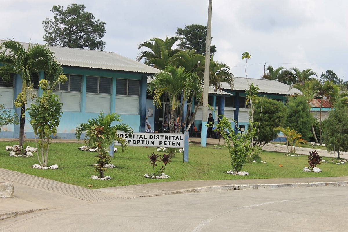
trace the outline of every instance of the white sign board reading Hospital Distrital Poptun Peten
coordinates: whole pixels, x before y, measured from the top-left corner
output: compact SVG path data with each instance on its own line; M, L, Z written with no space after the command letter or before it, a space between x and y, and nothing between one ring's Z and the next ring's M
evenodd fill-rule
M152 147L184 147L184 134L162 134L162 133L117 133L119 137L125 138L129 146L152 146ZM114 145L120 144L115 141Z

